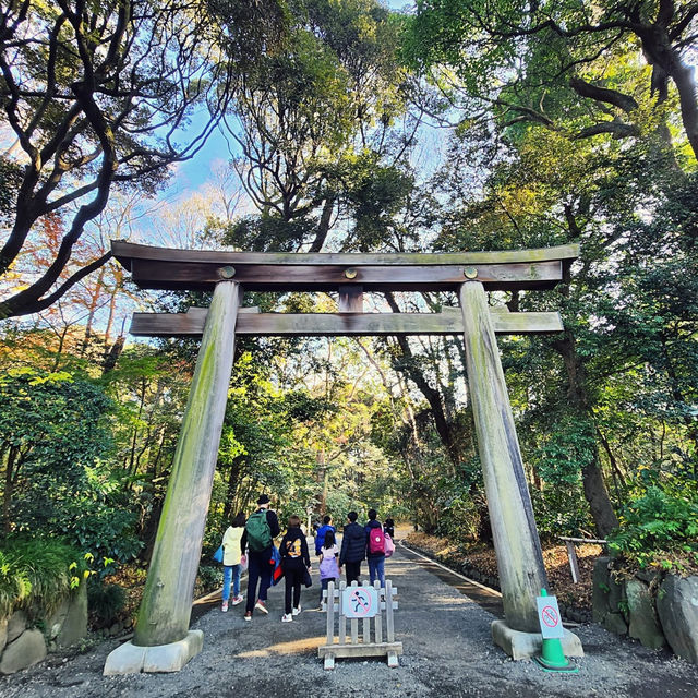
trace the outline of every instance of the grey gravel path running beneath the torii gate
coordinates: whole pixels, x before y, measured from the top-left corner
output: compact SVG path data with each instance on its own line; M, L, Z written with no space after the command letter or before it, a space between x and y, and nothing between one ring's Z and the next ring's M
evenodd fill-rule
M50 655L25 672L0 677L0 696L698 696L698 666L622 640L597 625L576 629L587 653L575 660L576 675L550 674L532 661L512 662L490 638L492 612L497 611L492 594L476 597L485 610L464 594L468 585L462 579L449 578L400 546L387 561L386 574L399 592L395 628L404 654L397 669L381 660L337 660L335 671L323 671L316 648L324 643L325 614L315 610L320 593L315 575L312 589L303 591L304 610L293 623L280 623L282 583L270 590L269 615L256 614L252 623L242 619L244 604L227 614L220 613L218 603L212 605L192 624L204 631L202 653L176 674L105 677L105 658L118 645L109 641L74 658Z

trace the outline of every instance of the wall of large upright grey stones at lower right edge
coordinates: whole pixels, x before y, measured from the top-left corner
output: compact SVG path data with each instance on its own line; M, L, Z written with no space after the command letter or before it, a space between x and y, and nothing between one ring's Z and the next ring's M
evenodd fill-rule
M698 664L698 577L638 573L617 580L612 558L599 557L593 570L593 621L645 647L664 646Z

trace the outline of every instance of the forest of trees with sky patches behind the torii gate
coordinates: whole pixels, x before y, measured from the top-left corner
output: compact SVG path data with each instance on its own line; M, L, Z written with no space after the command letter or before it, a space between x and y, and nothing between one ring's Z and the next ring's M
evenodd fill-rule
M565 324L500 339L539 530L694 568L697 15L688 0L5 3L0 611L44 593L17 561L47 538L97 590L152 552L197 342L134 341L129 317L208 299L135 289L111 239L580 243L555 290L490 294ZM336 302L244 299L279 312ZM459 337L238 338L236 357L205 558L261 491L282 517L375 506L490 542Z

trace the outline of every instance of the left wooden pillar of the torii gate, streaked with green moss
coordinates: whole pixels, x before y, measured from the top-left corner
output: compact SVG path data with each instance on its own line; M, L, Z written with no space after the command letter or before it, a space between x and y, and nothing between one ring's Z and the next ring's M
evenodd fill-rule
M157 529L136 646L177 642L189 630L234 351L240 288L216 286Z

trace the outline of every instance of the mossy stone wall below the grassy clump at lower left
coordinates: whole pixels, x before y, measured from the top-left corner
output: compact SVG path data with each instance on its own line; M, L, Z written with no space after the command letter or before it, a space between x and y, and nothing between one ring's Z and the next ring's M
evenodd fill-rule
M47 652L70 647L87 635L87 585L82 583L56 611L38 621L31 623L24 611L0 618L0 674L32 666Z

